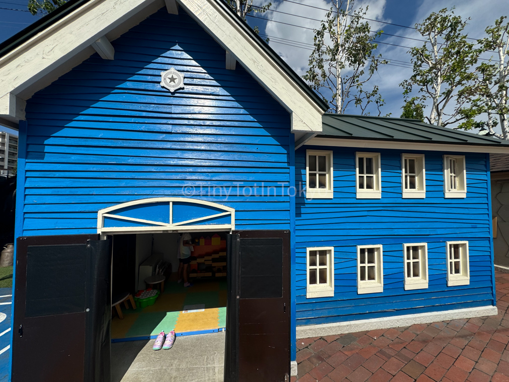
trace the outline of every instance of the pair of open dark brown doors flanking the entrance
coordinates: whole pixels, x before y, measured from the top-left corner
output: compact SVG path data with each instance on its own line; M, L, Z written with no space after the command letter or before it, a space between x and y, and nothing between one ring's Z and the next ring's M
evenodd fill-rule
M230 234L227 256L224 380L289 380L289 232ZM97 235L18 238L12 382L110 381L110 274Z

